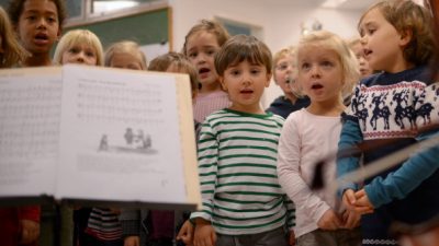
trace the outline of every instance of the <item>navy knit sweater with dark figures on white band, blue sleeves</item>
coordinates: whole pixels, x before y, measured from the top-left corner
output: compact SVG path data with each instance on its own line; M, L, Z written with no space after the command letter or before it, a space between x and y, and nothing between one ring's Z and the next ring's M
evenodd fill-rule
M416 67L399 73L382 72L363 80L357 86L351 105L344 117L339 149L352 147L362 141L373 144L376 140L398 139L394 144L364 153L367 165L416 142L414 131L409 130L421 127L424 119L428 120L434 114L436 114L434 118L437 118L439 109L437 95L435 98L429 96L430 102L425 98L427 85L430 84L430 74L427 71L426 67ZM420 124L416 124L417 121ZM358 156L338 160L337 176L358 167ZM384 178L398 167L383 172L379 176ZM365 184L370 181L370 179L365 180ZM356 184L342 187L342 189L347 188L358 189ZM370 229L373 234L379 231L386 232L393 220L418 223L431 218L437 214L439 208L438 188L439 172L436 171L406 198L390 202L378 209L375 213L365 215L365 220L362 221L363 229L365 231ZM370 227L368 223L372 223ZM368 232L364 233L365 237L371 236Z

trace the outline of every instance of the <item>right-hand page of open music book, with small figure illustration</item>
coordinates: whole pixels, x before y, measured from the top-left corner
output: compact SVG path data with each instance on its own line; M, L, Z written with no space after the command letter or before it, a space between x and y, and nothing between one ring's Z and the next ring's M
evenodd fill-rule
M176 80L65 66L58 196L185 201Z

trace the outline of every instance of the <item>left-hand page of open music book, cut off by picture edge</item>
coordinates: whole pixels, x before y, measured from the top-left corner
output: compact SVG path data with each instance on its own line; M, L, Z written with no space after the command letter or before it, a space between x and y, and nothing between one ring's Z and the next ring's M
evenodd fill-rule
M0 196L53 195L60 68L0 70Z

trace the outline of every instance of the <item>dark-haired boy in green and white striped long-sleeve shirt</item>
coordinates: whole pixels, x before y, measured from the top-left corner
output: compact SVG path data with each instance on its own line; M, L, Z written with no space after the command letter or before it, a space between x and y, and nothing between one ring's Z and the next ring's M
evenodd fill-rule
M232 37L215 57L232 106L207 116L199 139L202 211L191 214L195 246L289 245L294 209L277 174L283 118L260 105L271 52L257 38ZM291 234L294 243L294 234Z

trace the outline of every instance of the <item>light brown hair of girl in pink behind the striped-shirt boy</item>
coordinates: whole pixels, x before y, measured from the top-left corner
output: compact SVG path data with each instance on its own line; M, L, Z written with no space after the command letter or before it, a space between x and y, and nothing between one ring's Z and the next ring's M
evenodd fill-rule
M216 21L210 21L210 20L201 20L198 24L195 24L194 26L192 26L192 28L189 31L189 33L185 35L184 37L184 45L183 45L183 50L182 52L184 54L184 56L188 56L187 54L187 48L188 48L188 39L200 32L207 32L210 34L215 35L216 37L216 42L218 43L218 46L223 46L224 43L227 42L227 39L230 37L230 35L228 34L227 30L224 28L224 26L222 24L219 24Z

